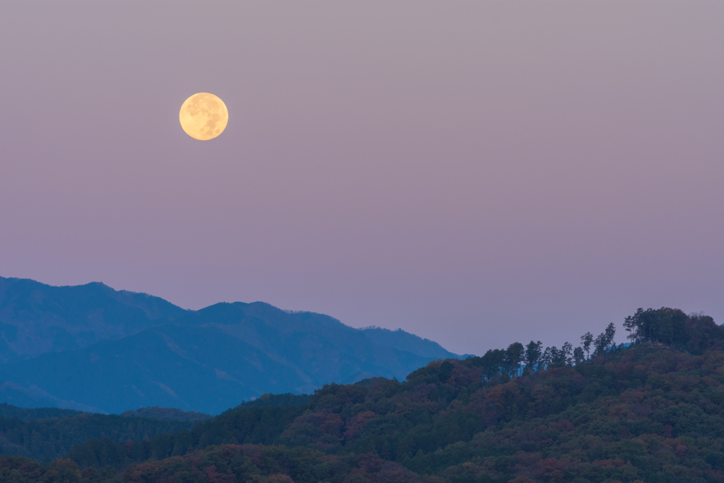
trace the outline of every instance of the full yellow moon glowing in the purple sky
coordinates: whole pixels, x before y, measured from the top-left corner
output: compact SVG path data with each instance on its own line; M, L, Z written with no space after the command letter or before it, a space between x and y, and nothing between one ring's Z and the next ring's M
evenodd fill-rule
M224 132L229 111L224 101L206 92L194 94L181 105L181 127L194 139L209 140Z

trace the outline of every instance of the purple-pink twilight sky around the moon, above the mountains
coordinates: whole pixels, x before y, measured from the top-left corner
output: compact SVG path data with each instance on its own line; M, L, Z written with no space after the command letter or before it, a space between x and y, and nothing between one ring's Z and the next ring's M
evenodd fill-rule
M0 275L458 353L638 307L722 323L723 25L721 1L4 1ZM179 125L200 91L215 140Z

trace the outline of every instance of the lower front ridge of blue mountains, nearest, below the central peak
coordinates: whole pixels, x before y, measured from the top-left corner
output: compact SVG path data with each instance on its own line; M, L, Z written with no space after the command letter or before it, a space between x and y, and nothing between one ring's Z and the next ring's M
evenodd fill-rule
M273 392L277 384L271 374L294 376L292 369L219 329L172 324L46 353L7 369L14 382L109 413L148 406L219 413ZM280 389L276 392L285 392L287 385Z

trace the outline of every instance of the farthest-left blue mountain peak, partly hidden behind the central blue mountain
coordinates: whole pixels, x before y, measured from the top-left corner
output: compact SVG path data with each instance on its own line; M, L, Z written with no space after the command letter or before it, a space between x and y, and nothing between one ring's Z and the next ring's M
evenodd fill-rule
M87 347L186 313L162 298L99 282L52 287L0 277L0 362Z

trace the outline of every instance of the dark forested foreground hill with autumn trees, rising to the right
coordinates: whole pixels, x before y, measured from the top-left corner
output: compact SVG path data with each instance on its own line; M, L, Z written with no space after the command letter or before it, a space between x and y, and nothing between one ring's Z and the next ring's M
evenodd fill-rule
M613 326L578 348L511 344L175 436L90 440L48 469L0 466L88 483L106 466L127 483L724 482L724 329L668 308L626 327L628 348Z

